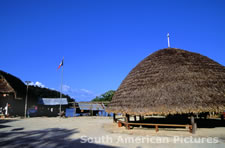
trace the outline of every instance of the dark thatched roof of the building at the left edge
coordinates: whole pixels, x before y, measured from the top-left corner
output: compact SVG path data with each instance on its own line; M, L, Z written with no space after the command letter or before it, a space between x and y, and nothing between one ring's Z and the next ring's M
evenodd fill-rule
M15 98L24 98L26 85L17 77L0 70L0 93L13 94Z

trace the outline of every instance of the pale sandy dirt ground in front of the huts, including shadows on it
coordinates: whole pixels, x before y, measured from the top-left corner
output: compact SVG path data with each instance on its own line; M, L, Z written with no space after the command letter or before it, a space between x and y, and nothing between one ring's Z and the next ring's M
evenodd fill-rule
M0 119L0 147L78 148L224 148L225 126L199 128L117 127L108 117Z

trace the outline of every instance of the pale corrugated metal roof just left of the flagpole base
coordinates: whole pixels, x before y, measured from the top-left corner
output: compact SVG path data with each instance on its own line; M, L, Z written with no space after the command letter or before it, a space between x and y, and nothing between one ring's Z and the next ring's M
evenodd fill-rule
M67 98L41 98L39 99L38 104L43 105L67 105Z

